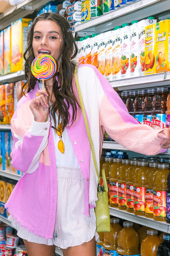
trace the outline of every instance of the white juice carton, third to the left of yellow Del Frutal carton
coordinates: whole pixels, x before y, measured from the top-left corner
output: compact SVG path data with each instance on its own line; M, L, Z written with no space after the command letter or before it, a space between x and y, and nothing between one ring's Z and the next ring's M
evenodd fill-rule
M130 26L123 23L121 31L121 79L130 78Z

